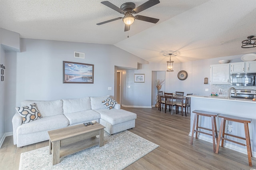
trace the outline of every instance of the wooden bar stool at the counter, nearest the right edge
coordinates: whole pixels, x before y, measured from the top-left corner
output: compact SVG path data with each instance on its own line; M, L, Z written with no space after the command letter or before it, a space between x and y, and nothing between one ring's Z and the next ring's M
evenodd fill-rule
M218 154L218 152L219 152L220 140L221 140L221 147L223 147L224 140L228 140L230 142L234 142L236 144L240 144L240 145L243 145L243 146L247 147L249 166L252 166L252 159L251 159L251 157L252 157L252 148L251 148L249 127L248 127L248 123L251 123L252 119L243 118L243 117L236 117L236 116L231 116L231 115L223 115L223 114L220 114L219 117L221 118L221 123L220 123L220 132L219 132L219 138L218 138L218 142L217 142L216 154ZM245 138L225 133L226 121L233 121L233 122L243 123L244 124ZM246 140L246 144L243 144L243 143L236 142L234 140L225 138L224 135Z

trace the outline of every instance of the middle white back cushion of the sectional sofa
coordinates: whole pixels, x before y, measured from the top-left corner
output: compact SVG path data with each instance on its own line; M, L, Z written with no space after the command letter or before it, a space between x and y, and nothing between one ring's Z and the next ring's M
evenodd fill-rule
M82 99L62 99L63 113L74 113L91 109L90 97Z

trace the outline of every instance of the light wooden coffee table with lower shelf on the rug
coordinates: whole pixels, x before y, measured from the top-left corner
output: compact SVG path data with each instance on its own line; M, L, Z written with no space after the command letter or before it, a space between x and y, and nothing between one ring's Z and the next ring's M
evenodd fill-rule
M60 163L60 157L73 154L80 150L99 144L104 146L104 126L99 123L94 125L75 125L48 131L49 154L52 154L52 165ZM99 135L99 138L96 138Z

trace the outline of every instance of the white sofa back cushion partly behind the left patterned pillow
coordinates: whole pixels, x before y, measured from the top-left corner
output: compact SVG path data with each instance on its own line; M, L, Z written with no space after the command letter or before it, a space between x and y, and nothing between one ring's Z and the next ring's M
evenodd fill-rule
M36 103L38 111L42 117L63 115L62 100L55 101L22 101L20 104L22 107L28 106L32 103Z

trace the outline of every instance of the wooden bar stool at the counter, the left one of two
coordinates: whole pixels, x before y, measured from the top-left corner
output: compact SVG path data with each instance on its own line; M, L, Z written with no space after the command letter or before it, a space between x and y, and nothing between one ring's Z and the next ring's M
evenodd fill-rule
M195 113L195 117L194 117L194 124L193 124L193 130L192 130L190 144L193 144L194 131L196 132L196 139L197 139L197 133L207 134L207 135L212 136L213 152L216 152L215 138L216 138L216 141L218 141L218 132L217 132L217 127L216 127L216 117L218 116L218 113L198 111L198 110L194 110L193 113ZM199 116L211 117L211 119L212 119L212 128L210 129L210 128L205 128L205 127L198 126ZM196 125L196 129L195 129L195 125ZM212 134L207 133L207 132L202 132L202 131L198 130L198 128L212 131Z

